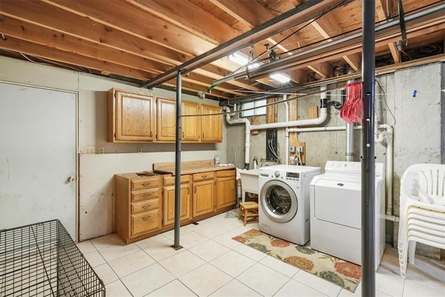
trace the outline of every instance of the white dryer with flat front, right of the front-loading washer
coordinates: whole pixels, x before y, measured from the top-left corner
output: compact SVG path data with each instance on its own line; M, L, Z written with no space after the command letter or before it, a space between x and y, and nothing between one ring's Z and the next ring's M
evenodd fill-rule
M362 163L327 161L311 182L311 248L362 265ZM385 250L385 167L375 163L375 269Z

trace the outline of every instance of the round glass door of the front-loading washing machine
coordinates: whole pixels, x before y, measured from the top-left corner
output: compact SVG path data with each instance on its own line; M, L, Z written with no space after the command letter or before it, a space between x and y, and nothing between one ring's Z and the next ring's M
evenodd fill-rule
M295 191L280 180L270 180L261 187L259 201L264 214L277 223L286 223L298 211L298 199Z

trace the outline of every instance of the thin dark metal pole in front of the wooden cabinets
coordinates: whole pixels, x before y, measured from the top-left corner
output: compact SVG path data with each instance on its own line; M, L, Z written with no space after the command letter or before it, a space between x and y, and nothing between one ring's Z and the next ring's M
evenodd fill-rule
M181 227L181 89L182 75L176 79L176 159L175 159L175 243L172 248L179 250L179 228Z

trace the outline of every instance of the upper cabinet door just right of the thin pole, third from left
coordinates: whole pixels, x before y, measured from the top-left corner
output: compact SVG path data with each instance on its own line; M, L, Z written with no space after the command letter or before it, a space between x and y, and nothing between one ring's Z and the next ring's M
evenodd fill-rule
M181 102L181 115L200 115L200 104L197 102ZM181 117L181 141L200 141L200 116Z

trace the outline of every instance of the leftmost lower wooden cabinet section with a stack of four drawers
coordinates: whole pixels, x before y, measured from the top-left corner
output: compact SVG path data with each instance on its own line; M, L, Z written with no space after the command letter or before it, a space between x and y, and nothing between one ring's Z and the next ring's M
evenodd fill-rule
M131 243L162 227L161 175L115 175L115 233Z

